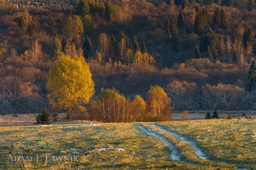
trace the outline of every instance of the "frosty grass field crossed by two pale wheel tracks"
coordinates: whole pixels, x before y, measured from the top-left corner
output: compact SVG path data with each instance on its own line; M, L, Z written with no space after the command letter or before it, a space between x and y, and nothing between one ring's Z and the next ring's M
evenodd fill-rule
M0 127L0 169L256 168L256 120Z

